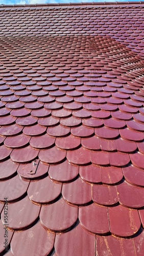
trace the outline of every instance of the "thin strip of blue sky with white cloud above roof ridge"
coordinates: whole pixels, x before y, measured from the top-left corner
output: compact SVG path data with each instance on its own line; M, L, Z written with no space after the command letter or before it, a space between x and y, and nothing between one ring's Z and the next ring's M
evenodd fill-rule
M117 0L117 2L124 2L127 0ZM138 1L139 0L129 0ZM25 4L58 4L58 3L81 3L81 2L116 2L115 0L0 0L0 4L4 5L25 5Z

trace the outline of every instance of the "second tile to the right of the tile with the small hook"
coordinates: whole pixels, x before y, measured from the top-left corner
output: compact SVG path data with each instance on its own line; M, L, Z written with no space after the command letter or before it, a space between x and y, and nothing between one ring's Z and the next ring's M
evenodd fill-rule
M93 164L80 166L80 177L89 183L100 183L102 182L101 168Z

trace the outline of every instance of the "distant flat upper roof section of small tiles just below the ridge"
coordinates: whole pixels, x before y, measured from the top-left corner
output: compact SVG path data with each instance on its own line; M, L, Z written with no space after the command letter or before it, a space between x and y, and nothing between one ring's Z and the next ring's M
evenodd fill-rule
M97 9L22 8L12 12L10 8L2 9L1 36L109 35L143 56L142 4Z

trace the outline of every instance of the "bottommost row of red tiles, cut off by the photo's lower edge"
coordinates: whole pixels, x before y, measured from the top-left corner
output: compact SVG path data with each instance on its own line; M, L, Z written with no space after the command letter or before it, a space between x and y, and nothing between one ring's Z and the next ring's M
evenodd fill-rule
M123 224L123 223L122 223ZM0 223L3 228L2 223ZM2 231L4 228L2 229ZM40 234L40 236L39 236ZM45 230L40 222L22 232L9 231L11 250L6 255L142 255L143 231L132 239L118 238L114 236L94 236L81 224L68 232L54 233ZM25 241L25 246L23 246ZM2 252L3 253L3 252ZM2 254L3 255L3 254Z

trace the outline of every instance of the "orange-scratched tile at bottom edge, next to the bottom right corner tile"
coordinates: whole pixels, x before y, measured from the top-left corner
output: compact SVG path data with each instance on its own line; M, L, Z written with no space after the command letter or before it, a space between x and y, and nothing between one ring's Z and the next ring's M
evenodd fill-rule
M111 256L116 255L135 255L135 248L132 239L124 239L113 236L97 236L96 237L96 251L98 255L104 252L106 255L111 254Z

